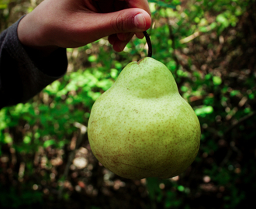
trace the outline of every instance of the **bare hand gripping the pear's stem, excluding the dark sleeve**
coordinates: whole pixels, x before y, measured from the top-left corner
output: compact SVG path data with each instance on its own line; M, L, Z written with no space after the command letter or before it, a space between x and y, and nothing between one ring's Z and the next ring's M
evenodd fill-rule
M122 51L151 24L147 0L44 0L18 26L20 42L36 49L85 46L109 36Z

